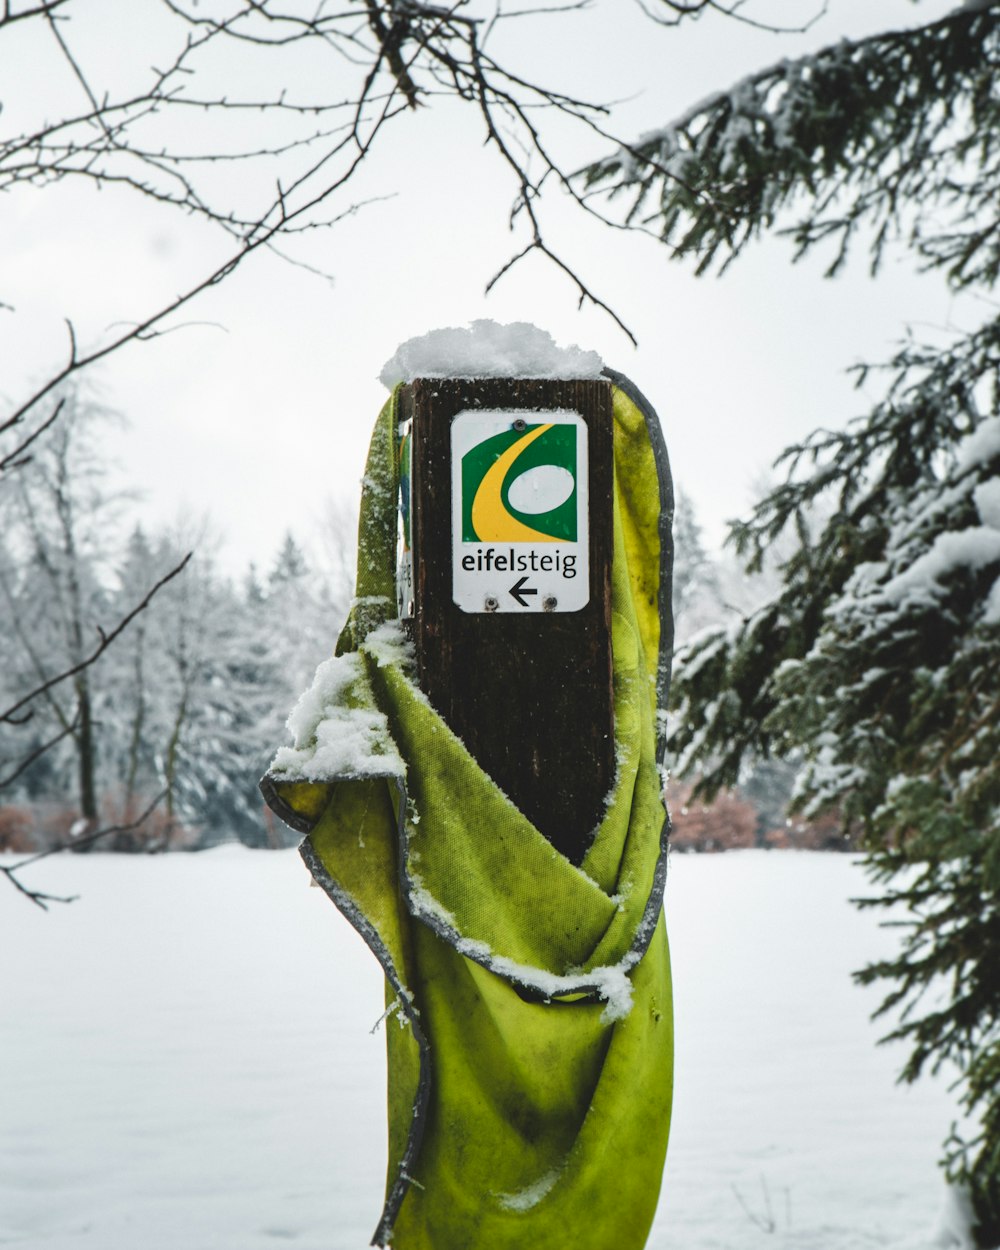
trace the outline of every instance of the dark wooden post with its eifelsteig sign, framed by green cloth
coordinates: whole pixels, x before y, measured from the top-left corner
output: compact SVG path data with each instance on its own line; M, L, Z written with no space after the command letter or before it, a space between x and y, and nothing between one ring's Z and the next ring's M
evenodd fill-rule
M579 864L615 776L611 386L418 379L406 420L421 689Z

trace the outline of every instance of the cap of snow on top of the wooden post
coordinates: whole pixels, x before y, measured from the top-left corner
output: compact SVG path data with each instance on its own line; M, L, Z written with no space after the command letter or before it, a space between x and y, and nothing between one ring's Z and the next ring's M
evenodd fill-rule
M529 321L472 321L408 339L379 375L391 390L414 378L600 378L596 351L560 348Z

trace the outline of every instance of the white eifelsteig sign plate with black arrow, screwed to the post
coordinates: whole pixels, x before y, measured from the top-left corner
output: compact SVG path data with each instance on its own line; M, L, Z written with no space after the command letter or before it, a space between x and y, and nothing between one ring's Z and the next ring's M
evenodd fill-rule
M451 424L451 591L466 612L590 600L588 428L566 409L471 409Z

